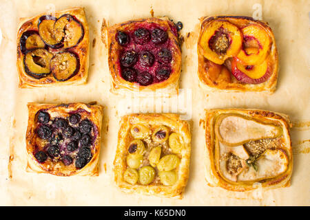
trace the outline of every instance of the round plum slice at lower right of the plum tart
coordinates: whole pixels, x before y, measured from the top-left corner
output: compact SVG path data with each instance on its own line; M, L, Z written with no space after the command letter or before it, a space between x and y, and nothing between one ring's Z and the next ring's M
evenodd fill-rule
M79 72L79 58L70 52L61 52L50 61L50 69L56 80L68 80Z

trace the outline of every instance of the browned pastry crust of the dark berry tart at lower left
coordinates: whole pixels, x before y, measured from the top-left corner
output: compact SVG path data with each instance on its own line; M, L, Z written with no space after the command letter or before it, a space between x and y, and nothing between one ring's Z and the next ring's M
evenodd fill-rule
M52 118L68 118L72 113L79 113L81 120L88 119L93 123L92 135L95 137L92 140L92 159L83 166L77 169L74 163L70 166L64 166L63 162L53 162L52 159L46 159L45 162L39 163L34 157L36 146L42 148L45 146L45 141L37 137L37 113L44 110L50 114ZM58 176L72 176L72 175L88 175L98 176L99 174L99 152L101 146L101 123L103 118L103 108L100 105L90 105L84 103L70 103L70 104L38 104L28 103L28 128L26 132L26 149L27 149L27 168L28 172L34 173L50 173ZM76 155L76 154L74 154Z

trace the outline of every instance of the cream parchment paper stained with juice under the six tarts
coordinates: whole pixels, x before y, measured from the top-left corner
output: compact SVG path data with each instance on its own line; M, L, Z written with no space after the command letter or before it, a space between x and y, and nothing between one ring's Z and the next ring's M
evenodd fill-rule
M309 206L309 1L0 1L0 205L6 206ZM19 17L83 6L90 26L90 69L86 85L56 88L17 87L16 36ZM261 8L261 14L259 9ZM110 93L107 48L101 23L165 16L183 22L183 70L180 88L187 95L177 109L172 100L134 99ZM198 87L196 40L198 19L214 14L261 16L271 26L278 46L280 71L275 94L207 92ZM99 177L56 177L26 173L27 102L91 102L104 109ZM149 104L151 101L152 104ZM293 122L293 176L289 188L228 192L207 186L205 135L199 121L204 109L255 108L290 115ZM128 112L176 111L192 125L192 157L185 195L164 199L127 195L116 188L112 162L121 115Z

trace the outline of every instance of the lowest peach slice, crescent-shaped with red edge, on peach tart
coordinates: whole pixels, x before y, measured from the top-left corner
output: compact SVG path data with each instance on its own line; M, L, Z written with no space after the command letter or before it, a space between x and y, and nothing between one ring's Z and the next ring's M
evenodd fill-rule
M238 58L234 57L231 62L231 74L241 83L259 84L264 83L271 76L271 71L267 61L260 65L243 65Z

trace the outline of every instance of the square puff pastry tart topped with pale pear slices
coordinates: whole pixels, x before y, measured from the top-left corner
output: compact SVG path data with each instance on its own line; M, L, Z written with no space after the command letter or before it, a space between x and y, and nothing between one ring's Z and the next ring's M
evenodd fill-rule
M287 115L256 109L215 109L205 120L207 181L246 191L289 186L293 155Z

